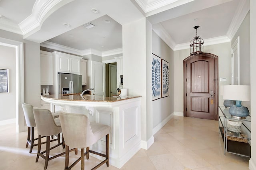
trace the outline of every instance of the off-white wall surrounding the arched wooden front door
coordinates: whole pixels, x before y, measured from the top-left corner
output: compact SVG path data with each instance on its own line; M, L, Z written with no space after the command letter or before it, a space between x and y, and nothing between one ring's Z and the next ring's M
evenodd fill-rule
M218 56L219 78L226 77L227 82L219 82L219 86L231 84L231 45L221 43L204 46L205 53ZM174 111L183 113L183 60L190 55L190 49L174 51ZM219 93L220 94L220 93ZM219 95L219 105L223 105L223 98Z

